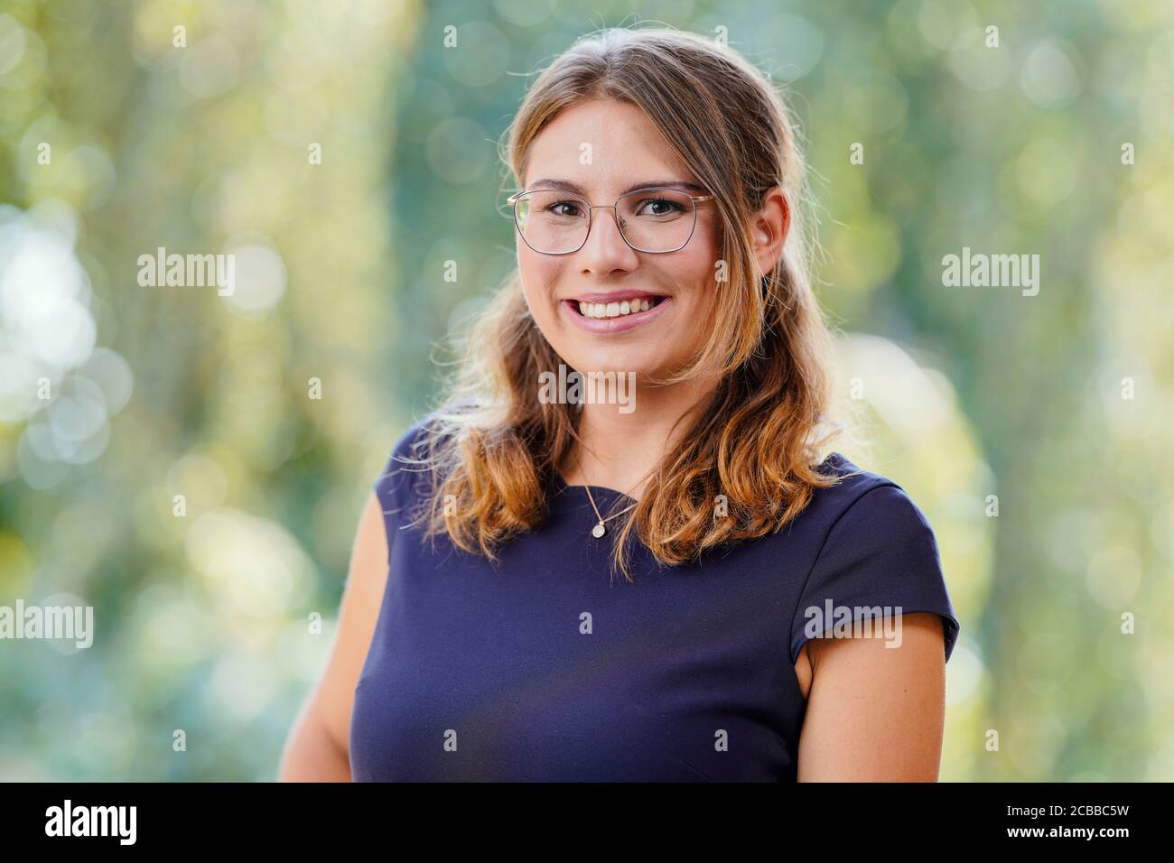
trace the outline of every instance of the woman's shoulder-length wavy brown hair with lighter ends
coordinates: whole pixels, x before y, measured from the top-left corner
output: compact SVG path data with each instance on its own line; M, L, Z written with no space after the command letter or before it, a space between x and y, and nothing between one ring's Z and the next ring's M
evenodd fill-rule
M661 382L718 375L618 532L613 566L630 581L626 550L634 537L672 566L782 528L815 488L842 478L817 468L823 444L843 426L825 416L830 332L809 282L803 160L771 82L733 49L682 31L583 36L541 72L507 129L500 155L519 184L535 136L593 99L641 108L716 196L728 275L715 285L714 316L728 325L714 326L694 360ZM776 186L791 224L780 259L762 272L750 225ZM539 375L560 362L514 270L475 321L444 406L425 424L426 537L447 534L495 560L501 544L541 525L549 483L579 440L579 409L539 398Z

